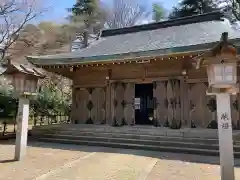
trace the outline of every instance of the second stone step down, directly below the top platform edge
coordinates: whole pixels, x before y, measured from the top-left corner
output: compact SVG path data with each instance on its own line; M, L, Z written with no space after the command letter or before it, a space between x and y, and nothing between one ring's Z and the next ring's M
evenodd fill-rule
M94 136L105 138L127 138L127 139L144 139L152 141L179 141L179 142L197 142L205 144L218 144L218 139L204 139L204 138L184 138L184 137L168 137L145 134L130 134L130 133L108 133L108 132L79 132L79 131L59 131L58 135L72 135L72 136Z

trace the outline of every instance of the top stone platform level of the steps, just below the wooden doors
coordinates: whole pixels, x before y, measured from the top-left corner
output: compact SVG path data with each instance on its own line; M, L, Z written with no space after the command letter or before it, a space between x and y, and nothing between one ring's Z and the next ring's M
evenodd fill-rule
M108 125L87 125L87 124L57 124L43 125L33 127L35 130L54 130L54 131L91 131L91 132L108 132L108 133L136 133L145 135L167 136L167 137L188 137L188 138L207 138L218 139L217 129L201 129L201 128L182 128L169 129L154 126L122 126L113 127ZM233 131L233 137L240 136L240 130Z

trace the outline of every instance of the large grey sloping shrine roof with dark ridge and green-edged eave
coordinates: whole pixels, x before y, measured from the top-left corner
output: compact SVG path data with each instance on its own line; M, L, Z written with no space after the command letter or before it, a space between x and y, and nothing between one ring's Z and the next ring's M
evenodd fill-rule
M57 55L31 56L35 65L80 64L142 56L160 56L211 48L223 32L240 40L220 12L159 23L103 30L101 37L85 49ZM239 41L240 42L240 41Z

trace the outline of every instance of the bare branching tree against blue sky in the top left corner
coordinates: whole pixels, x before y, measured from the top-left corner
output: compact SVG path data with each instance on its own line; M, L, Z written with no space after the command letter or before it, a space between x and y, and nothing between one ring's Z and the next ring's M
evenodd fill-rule
M19 38L24 26L43 12L39 5L38 0L0 1L0 60Z

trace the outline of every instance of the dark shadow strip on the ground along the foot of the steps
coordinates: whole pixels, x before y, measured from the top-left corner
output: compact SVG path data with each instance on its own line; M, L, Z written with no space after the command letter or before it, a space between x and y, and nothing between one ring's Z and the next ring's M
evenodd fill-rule
M14 145L14 141L0 141L0 145ZM213 156L201 156L192 154L176 154L176 153L166 153L157 151L144 151L135 149L119 149L119 148L109 148L109 147L98 147L98 146L80 146L73 144L58 144L58 143L44 143L37 141L29 141L28 146L34 148L50 148L50 149L61 149L69 151L82 151L82 152L101 152L101 153L120 153L120 154L132 154L137 156L145 156L158 158L159 160L179 160L183 162L191 163L204 163L219 165L219 157ZM14 160L6 160L5 163L13 162ZM4 163L1 162L0 163ZM235 159L235 167L240 167L240 159Z

